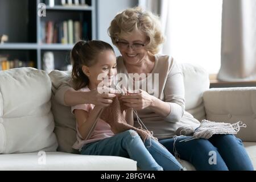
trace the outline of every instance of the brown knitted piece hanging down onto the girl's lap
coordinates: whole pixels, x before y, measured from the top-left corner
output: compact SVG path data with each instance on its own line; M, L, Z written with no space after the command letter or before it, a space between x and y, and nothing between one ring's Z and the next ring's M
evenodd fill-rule
M112 104L109 107L105 107L101 113L100 118L108 123L114 134L121 133L126 130L135 130L145 141L147 138L154 138L150 131L144 129L138 129L137 127L127 124L123 117L123 111L128 109L125 105L119 102L118 97L115 97Z

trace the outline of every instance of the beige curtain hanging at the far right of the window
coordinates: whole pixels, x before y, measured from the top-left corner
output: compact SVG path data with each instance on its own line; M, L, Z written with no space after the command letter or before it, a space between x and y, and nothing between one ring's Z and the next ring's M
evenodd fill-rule
M256 80L256 1L224 0L221 69L223 81Z

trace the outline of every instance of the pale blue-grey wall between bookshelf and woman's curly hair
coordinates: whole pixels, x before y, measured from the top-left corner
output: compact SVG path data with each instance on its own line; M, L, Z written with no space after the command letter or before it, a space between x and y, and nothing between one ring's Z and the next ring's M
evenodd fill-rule
M108 35L108 27L114 16L125 10L127 7L133 7L138 5L138 0L98 0L97 3L97 37L99 40L103 40L112 44ZM113 44L112 44L113 46ZM115 48L115 47L114 47ZM115 48L115 54L120 55L117 48Z

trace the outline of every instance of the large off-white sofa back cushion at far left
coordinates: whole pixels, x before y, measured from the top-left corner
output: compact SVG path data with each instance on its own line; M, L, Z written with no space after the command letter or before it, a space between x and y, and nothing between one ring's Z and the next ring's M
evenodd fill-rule
M0 154L56 151L51 80L35 68L0 71Z

